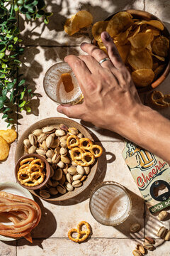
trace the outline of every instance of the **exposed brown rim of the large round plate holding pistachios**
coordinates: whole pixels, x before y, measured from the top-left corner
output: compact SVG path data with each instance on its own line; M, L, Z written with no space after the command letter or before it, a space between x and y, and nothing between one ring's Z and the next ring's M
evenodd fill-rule
M36 122L35 124L31 125L21 136L21 139L19 140L18 145L16 146L15 162L17 163L18 159L20 159L21 156L23 156L24 154L23 140L27 139L28 135L31 132L33 132L35 129L41 129L42 127L52 126L55 124L66 124L68 127L75 127L79 129L81 134L84 134L84 137L94 140L91 137L91 134L89 134L89 132L87 132L87 130L81 124L78 124L72 119L62 118L62 117L50 117L47 119L42 119ZM96 174L97 167L98 167L98 161L95 161L93 166L91 166L91 171L87 176L86 181L84 181L83 185L79 188L74 188L74 191L68 191L64 195L60 195L60 196L56 195L56 196L51 196L50 198L42 198L39 195L39 191L36 191L36 190L30 191L30 193L33 193L33 195L38 196L39 198L45 199L47 201L53 201L53 202L67 201L70 198L74 198L75 196L77 196L79 193L84 191L90 185L91 181L93 181L94 176Z

